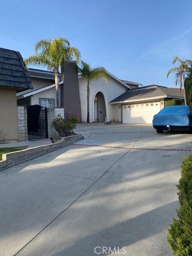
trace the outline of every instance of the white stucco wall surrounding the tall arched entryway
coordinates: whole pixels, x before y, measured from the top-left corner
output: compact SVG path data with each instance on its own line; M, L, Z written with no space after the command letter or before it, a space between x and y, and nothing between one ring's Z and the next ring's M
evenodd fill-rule
M87 81L84 78L79 79L79 90L81 100L81 113L82 121L87 120ZM94 97L97 92L102 92L106 100L106 117L107 121L113 120L114 117L114 106L108 104L111 100L118 97L120 94L126 91L126 87L116 81L114 78L109 77L109 83L103 79L92 80L90 82L90 122L93 121L93 103Z

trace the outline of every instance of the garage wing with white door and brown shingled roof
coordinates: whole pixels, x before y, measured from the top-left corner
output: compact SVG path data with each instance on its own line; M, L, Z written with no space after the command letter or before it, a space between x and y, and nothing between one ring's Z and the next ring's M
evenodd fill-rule
M183 91L158 85L143 86L127 90L109 102L118 112L122 123L152 123L153 116L162 108L166 100L184 99ZM118 111L119 108L119 111Z

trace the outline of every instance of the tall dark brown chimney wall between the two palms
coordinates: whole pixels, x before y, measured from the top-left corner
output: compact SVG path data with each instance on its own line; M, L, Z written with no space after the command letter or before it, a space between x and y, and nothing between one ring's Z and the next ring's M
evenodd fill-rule
M61 85L61 108L64 108L65 118L72 111L73 115L79 115L81 122L79 80L74 62L69 62L65 68L64 84Z

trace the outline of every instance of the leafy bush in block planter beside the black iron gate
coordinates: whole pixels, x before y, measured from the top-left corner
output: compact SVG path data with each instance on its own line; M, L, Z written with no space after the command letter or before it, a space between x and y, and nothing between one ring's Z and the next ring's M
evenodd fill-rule
M58 132L59 138L61 138L61 136L69 136L73 133L73 129L76 128L76 124L72 123L70 120L62 118L60 114L58 114L58 116L52 121L52 126Z

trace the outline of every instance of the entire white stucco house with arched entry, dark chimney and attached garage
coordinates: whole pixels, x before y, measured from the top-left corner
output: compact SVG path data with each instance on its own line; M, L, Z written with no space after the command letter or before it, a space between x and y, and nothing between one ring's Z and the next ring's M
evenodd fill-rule
M152 123L154 114L164 107L168 99L184 99L183 92L174 88L120 80L110 72L108 84L102 80L90 82L90 122L120 121L123 123ZM34 86L17 94L18 105L40 104L54 107L56 92L54 73L50 71L28 69ZM60 82L61 107L65 117L72 111L82 122L87 120L87 81L78 76L74 62L66 67L65 81Z

